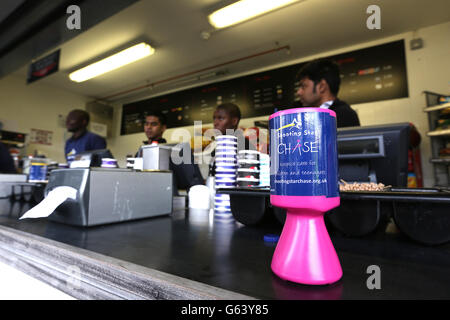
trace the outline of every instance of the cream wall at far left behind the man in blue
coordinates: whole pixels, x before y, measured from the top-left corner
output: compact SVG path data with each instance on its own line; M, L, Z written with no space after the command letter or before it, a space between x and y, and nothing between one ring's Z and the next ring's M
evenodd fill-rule
M40 81L26 84L26 79L9 75L0 79L0 121L3 130L30 133L40 129L53 132L52 145L28 144L26 152L39 150L47 157L65 162L64 143L70 134L58 123L72 109L85 109L87 97L51 87Z

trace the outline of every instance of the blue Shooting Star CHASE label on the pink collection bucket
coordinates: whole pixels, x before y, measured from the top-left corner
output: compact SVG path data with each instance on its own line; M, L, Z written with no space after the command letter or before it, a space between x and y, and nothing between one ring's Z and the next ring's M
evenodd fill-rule
M336 118L328 112L270 119L270 193L338 197Z

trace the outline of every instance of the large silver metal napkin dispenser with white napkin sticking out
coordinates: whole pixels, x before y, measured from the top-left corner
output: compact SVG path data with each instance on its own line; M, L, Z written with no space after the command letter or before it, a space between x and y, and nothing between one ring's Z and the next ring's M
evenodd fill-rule
M77 189L76 200L59 205L48 219L95 226L172 212L172 172L130 169L59 169L50 173L45 195L60 186Z

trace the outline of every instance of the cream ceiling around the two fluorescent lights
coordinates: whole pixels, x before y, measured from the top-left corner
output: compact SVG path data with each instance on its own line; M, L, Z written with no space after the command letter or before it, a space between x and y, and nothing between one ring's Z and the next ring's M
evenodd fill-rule
M2 0L3 1L3 0ZM280 51L229 64L228 77L272 64L364 43L450 21L449 0L304 0L254 20L213 32L208 9L218 0L141 0L61 46L60 71L39 82L102 98L172 76L225 63L279 46ZM366 9L381 8L381 30L369 30ZM83 23L83 12L82 12ZM83 25L82 25L83 27ZM68 73L106 52L145 37L156 53L103 76L75 83ZM56 48L54 48L56 49ZM16 74L26 77L27 67ZM217 79L218 80L218 79ZM31 84L32 85L32 84ZM179 85L178 85L179 86ZM134 91L152 95L176 84ZM134 96L135 98L136 96ZM130 99L128 95L110 100Z

